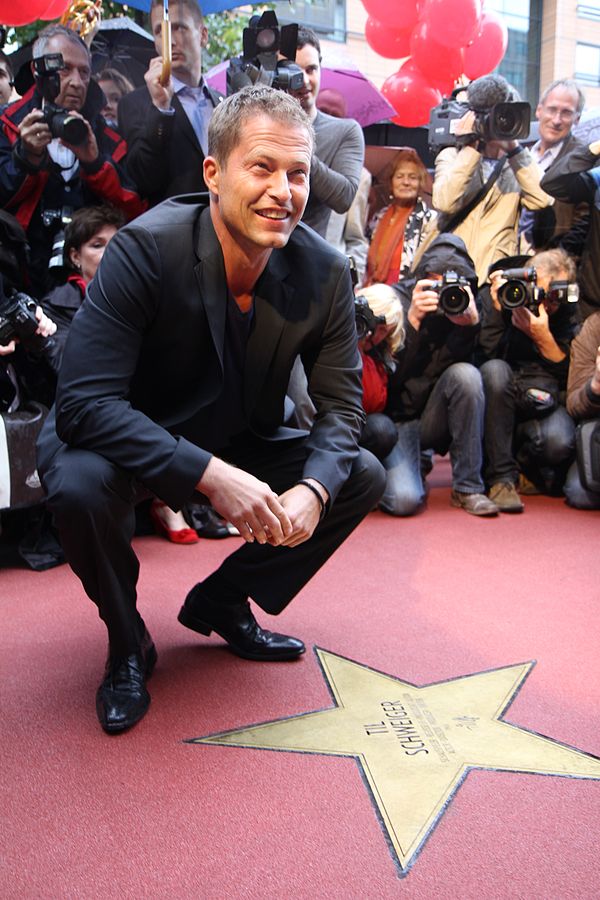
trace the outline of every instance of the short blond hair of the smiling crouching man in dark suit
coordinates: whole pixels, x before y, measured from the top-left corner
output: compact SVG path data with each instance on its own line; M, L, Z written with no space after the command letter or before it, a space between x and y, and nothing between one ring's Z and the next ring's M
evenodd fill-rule
M309 138L311 149L315 135L310 119L297 100L265 85L242 88L213 112L208 126L208 153L220 166L225 166L231 151L241 141L246 121L252 116L268 116L289 127L302 128Z

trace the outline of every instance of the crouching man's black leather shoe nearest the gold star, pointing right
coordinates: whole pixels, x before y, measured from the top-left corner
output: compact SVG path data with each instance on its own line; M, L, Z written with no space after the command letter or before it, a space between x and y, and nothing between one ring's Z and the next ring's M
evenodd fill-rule
M247 600L215 603L202 594L200 585L189 592L177 618L186 628L199 634L209 635L216 631L227 641L229 648L244 659L264 662L296 659L306 649L298 638L261 628Z

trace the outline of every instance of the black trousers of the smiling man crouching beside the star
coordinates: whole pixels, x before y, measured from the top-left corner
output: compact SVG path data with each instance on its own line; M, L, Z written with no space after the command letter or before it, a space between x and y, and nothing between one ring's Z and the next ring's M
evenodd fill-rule
M132 653L144 625L136 609L139 561L131 542L135 505L149 492L96 453L64 444L51 449L49 443L40 447L39 471L67 560L99 609L111 651ZM252 440L220 455L282 493L302 477L307 452L301 438ZM281 612L373 508L384 485L383 467L361 449L310 540L293 548L245 543L224 560L219 573L266 612Z

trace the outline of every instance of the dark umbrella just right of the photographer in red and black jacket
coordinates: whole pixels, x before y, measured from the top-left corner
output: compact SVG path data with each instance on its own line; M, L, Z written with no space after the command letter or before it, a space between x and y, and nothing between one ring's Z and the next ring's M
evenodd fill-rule
M144 75L156 56L152 35L127 16L100 23L91 46L94 74L117 69L136 86L144 84Z

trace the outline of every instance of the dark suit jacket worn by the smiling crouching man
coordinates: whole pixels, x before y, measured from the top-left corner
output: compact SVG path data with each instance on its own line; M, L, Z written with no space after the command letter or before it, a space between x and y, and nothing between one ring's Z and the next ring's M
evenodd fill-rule
M211 458L183 423L202 421L223 386L227 285L206 202L166 201L115 235L71 326L56 399L63 441L112 460L173 509ZM347 260L304 225L255 290L244 405L267 440L299 434L284 426L298 354L317 408L304 476L333 500L358 452L361 363Z

